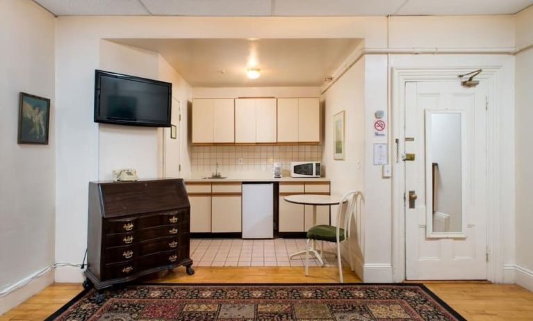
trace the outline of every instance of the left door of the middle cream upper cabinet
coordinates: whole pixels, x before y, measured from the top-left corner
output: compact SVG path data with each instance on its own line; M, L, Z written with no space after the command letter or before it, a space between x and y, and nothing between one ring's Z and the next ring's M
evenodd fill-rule
M235 142L256 142L255 99L235 99Z

